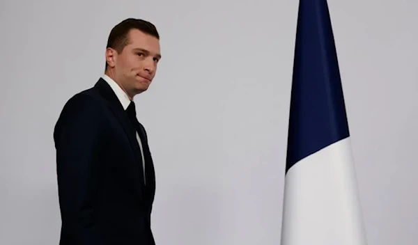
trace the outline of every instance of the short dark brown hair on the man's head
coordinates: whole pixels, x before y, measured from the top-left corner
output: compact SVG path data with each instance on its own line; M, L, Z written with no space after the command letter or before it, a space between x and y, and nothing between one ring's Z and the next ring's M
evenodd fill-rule
M160 39L160 35L158 34L154 24L147 22L144 19L128 18L111 29L106 48L111 47L112 49L115 49L118 54L120 54L123 51L123 48L130 42L128 34L132 29L137 29ZM107 62L104 70L106 69Z

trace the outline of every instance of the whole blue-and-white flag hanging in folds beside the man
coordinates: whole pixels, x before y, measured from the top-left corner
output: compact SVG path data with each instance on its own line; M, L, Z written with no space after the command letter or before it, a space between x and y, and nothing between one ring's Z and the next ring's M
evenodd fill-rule
M366 245L326 0L300 0L281 245Z

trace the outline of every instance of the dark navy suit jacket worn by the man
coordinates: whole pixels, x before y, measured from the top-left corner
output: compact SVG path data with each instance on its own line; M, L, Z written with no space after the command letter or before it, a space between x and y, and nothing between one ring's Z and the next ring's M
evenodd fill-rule
M153 245L155 172L146 131L138 133L103 79L73 96L54 128L60 245Z

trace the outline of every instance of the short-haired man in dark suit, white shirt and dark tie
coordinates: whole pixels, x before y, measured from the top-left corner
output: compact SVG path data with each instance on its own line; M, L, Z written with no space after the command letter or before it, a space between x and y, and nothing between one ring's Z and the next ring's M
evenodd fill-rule
M155 244L155 173L133 98L153 81L159 40L150 22L116 25L103 77L63 107L54 129L61 245Z

